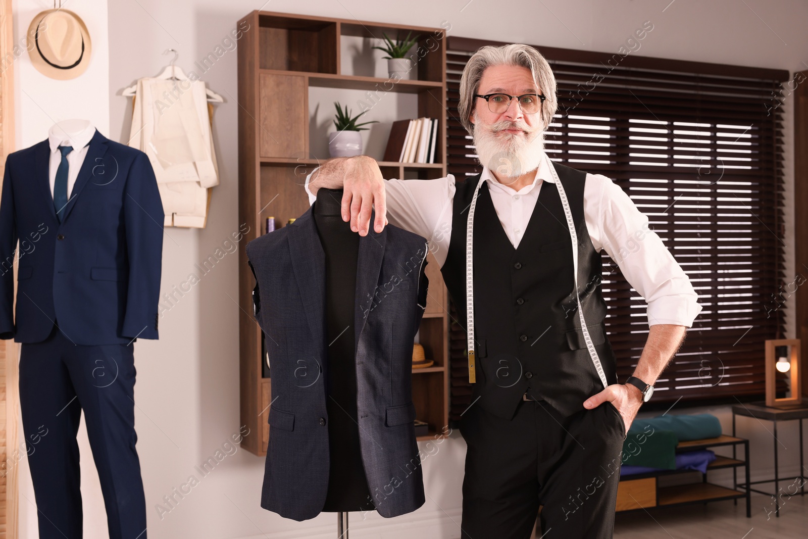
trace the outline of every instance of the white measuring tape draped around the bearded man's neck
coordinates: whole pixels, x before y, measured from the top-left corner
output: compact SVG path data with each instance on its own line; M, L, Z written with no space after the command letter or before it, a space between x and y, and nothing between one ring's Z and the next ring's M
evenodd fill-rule
M567 228L570 229L570 241L572 242L572 267L573 267L573 276L575 282L575 301L578 307L578 316L581 320L581 331L583 331L583 340L587 344L587 350L589 351L589 356L592 359L592 363L595 364L595 370L600 377L600 381L603 382L604 389L608 386L608 381L606 381L606 373L604 373L604 368L600 364L600 358L598 357L598 352L595 350L595 345L592 343L592 339L589 336L589 329L587 328L587 322L583 318L583 309L581 309L581 297L578 292L578 234L575 231L575 222L572 218L572 211L570 210L570 203L566 199L566 192L564 192L564 186L561 183L561 179L558 179L558 172L555 170L555 166L553 166L553 162L550 161L549 157L545 154L545 162L550 169L550 172L553 174L553 179L556 182L556 188L558 189L558 197L561 199L561 204L564 208L564 216L566 217L566 225ZM473 230L474 230L474 208L477 206L477 196L480 192L480 187L485 180L480 178L480 181L477 183L477 187L474 187L474 195L471 199L471 205L469 205L469 217L465 223L465 314L466 314L466 326L467 335L468 335L468 352L469 352L469 383L473 384L477 381L477 377L474 371L474 267L473 267Z

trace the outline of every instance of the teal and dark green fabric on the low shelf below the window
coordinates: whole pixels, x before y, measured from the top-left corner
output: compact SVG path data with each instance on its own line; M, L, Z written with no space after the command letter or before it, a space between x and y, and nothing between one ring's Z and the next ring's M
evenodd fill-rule
M676 469L676 445L722 435L721 423L712 414L658 415L634 419L623 442L622 461L630 466Z

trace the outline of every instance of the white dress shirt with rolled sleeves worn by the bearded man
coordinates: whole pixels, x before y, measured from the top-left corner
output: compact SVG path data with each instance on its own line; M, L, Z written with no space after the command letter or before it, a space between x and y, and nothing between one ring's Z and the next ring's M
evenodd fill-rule
M555 183L550 166L545 154L536 179L519 191L499 183L483 167L480 181L488 182L499 223L515 248L536 206L541 184ZM317 196L309 192L310 177L309 174L306 178L305 191L309 204L314 204ZM455 178L451 174L440 179L385 179L387 220L427 238L441 267L452 236L454 194ZM648 217L621 187L604 175L587 174L583 213L595 251L606 251L629 284L646 300L649 326L692 326L701 312L696 291L662 239L648 228Z

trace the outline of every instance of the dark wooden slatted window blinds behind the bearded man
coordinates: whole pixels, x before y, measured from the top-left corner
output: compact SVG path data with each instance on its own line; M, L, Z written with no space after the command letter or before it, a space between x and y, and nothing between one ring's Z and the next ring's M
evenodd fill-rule
M465 63L486 44L503 43L448 38L448 173L458 181L482 170L457 103ZM783 336L782 305L801 284L784 267L781 83L789 73L638 57L625 48L537 48L558 82L550 157L620 185L699 294L703 310L656 382L651 406L762 396L764 339ZM603 257L608 339L624 382L646 341L646 303ZM462 328L454 331L457 339ZM462 350L452 346L452 357L451 415L459 419L470 391Z

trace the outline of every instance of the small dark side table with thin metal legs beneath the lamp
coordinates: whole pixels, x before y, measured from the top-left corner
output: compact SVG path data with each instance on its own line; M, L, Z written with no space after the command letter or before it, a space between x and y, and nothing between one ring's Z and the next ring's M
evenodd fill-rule
M735 404L732 406L732 434L735 433L735 416L736 415L745 415L747 417L751 417L760 421L760 419L764 419L767 421L771 421L774 426L774 478L773 479L762 479L760 481L749 481L749 474L747 473L747 482L746 483L739 483L739 486L744 486L749 488L751 491L758 492L760 494L769 495L774 497L774 507L775 507L775 515L780 516L780 499L778 497L778 493L780 492L780 482L781 481L789 481L789 480L797 480L800 479L802 483L800 485L800 492L789 492L789 495L805 495L805 483L808 481L808 477L802 474L802 470L805 470L804 466L804 457L803 457L803 443L802 443L802 419L808 418L808 406L804 404L800 405L782 405L776 408L772 408L771 406L766 406L765 402L748 402L747 404ZM779 470L779 445L781 441L777 439L777 422L778 421L792 421L793 419L798 419L800 424L800 474L795 475L793 477L788 478L781 478L780 477L780 470ZM785 446L784 446L785 447ZM734 450L733 450L734 455ZM759 485L762 483L774 483L774 492L767 492L767 491L760 491L755 488L751 488L752 485Z

